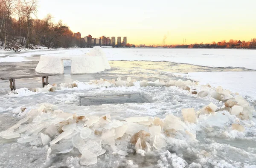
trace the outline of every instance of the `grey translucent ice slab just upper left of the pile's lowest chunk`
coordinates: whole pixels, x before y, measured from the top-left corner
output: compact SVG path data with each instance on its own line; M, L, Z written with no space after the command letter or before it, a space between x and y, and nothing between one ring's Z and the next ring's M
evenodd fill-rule
M51 145L51 148L52 148L52 153L63 154L73 150L74 146L73 146L72 140L64 140L59 144Z

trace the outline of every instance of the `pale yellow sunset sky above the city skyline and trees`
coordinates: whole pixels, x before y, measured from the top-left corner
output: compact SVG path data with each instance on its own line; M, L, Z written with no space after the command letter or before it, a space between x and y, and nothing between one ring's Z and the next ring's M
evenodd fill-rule
M81 36L124 37L132 44L211 43L256 38L256 0L38 0Z

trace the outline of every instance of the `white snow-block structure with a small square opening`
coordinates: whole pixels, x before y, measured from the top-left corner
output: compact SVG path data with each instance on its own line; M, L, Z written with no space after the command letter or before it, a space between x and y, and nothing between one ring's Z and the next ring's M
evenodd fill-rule
M71 74L90 74L111 68L102 48L94 47L90 54L41 55L35 71L42 74L64 74L63 60L71 60Z

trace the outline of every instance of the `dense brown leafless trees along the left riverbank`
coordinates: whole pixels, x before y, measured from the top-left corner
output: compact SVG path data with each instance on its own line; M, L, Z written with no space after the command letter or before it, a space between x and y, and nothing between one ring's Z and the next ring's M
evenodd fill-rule
M18 51L21 46L50 48L84 47L81 40L60 20L52 16L37 18L38 0L0 0L0 46Z

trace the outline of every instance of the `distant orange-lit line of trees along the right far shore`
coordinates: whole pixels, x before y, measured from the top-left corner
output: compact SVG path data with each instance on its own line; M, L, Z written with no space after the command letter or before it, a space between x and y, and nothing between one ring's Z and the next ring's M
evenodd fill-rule
M240 40L222 40L218 43L213 41L212 43L195 43L190 45L175 45L167 46L172 48L256 48L256 38L251 39L250 41L240 41Z

